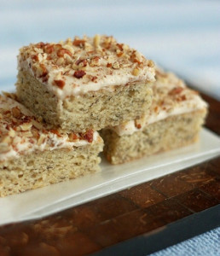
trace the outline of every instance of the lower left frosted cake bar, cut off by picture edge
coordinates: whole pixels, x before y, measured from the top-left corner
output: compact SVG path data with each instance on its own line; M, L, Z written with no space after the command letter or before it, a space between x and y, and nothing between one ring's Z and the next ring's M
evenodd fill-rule
M0 196L58 183L99 167L97 131L52 129L16 101L0 96Z

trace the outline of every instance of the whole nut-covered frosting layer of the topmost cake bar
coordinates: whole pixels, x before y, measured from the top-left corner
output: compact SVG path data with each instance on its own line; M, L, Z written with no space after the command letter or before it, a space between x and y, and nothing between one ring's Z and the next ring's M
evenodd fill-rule
M154 81L153 61L107 36L30 44L20 49L18 61L19 69L32 73L62 99L92 90L113 90L115 85L130 82Z

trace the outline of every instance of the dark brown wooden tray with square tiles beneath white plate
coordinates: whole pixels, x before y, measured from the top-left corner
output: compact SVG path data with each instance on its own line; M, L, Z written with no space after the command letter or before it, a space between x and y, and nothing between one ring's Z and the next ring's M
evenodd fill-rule
M220 102L203 97L210 104L206 127L219 135ZM128 254L137 255L140 239L145 239L145 245L151 241L153 246L146 251L143 246L142 253L152 252L163 242L168 246L220 224L215 217L219 179L220 157L47 218L2 226L0 255L121 255L123 248L131 246L136 253ZM197 233L190 232L190 227L184 229L187 225L196 227L196 222ZM166 227L171 227L170 237L163 233Z

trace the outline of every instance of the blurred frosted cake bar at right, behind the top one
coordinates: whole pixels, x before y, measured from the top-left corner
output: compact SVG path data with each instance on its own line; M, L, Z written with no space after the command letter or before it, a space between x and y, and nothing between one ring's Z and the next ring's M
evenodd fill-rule
M146 110L141 119L101 131L110 163L121 164L194 143L204 124L207 104L176 75L156 68L153 102Z

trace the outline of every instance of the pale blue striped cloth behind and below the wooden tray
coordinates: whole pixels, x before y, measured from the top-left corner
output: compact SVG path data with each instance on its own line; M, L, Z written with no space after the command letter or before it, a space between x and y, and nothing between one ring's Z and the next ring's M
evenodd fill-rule
M219 14L217 1L1 0L0 90L14 89L21 46L99 33L130 44L220 99ZM212 230L153 255L219 255L219 234Z

